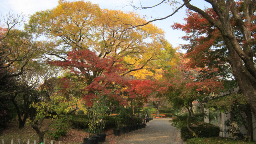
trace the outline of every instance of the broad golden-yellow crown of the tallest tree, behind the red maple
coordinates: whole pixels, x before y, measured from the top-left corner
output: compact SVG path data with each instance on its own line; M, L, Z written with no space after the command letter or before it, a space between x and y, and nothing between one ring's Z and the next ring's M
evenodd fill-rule
M100 9L90 2L59 1L56 8L32 15L27 29L48 38L46 49L51 51L46 52L47 59L53 60L49 57L52 55L65 61L69 51L90 49L100 58L122 59L128 68L123 75L139 69L160 68L151 61L159 60L161 48L168 45L164 32L154 25L128 29L118 19L134 24L145 21L135 13ZM90 80L97 74L91 76Z

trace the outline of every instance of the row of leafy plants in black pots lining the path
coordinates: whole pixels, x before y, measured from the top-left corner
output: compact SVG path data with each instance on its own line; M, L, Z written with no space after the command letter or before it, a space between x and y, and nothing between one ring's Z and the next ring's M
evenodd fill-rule
M87 108L89 117L88 135L83 139L83 144L98 144L104 142L106 134L105 129L106 116L111 112L111 104L108 105L108 97L98 95L97 98L91 100L92 105ZM127 133L136 129L141 129L146 126L145 114L148 111L143 111L140 108L131 107L115 107L114 135L118 136L121 133ZM149 120L152 120L150 118Z

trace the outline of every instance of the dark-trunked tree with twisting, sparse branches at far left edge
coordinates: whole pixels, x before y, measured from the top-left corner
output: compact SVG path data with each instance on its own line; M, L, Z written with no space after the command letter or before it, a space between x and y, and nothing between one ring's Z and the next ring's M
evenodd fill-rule
M23 128L30 112L29 105L35 100L30 96L38 79L28 80L27 77L40 65L40 44L37 35L18 29L24 23L23 15L7 13L0 21L5 23L0 27L0 97L12 101L19 128Z

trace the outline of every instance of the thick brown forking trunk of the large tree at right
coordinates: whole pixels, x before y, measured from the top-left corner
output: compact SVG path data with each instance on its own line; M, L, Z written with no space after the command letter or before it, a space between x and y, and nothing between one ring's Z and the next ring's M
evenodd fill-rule
M206 1L206 0L205 0ZM183 0L188 2L188 0ZM236 78L239 88L243 95L248 98L249 106L256 119L256 68L253 61L253 52L251 42L252 34L250 31L251 18L254 16L255 2L243 1L248 7L242 7L243 15L240 15L239 10L233 0L227 1L207 1L212 5L215 13L218 15L218 21L213 19L205 11L202 11L198 7L186 3L186 7L202 15L213 26L218 28L221 32L223 41L228 49L227 62L232 67L232 74ZM238 42L234 29L232 27L230 18L230 12L232 12L232 18L235 20L237 27L239 28L242 40L245 43ZM243 19L244 18L244 19Z

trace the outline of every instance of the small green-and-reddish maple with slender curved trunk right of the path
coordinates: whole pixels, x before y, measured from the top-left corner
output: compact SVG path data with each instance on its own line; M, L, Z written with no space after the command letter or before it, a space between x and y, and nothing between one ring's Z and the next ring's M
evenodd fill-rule
M193 102L207 102L210 93L218 93L222 89L222 82L218 77L201 78L201 68L190 68L187 65L188 59L185 59L184 55L180 58L177 65L166 73L169 83L172 84L166 92L166 96L174 108L187 109L186 127L197 137L189 123L189 118L194 116Z

